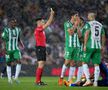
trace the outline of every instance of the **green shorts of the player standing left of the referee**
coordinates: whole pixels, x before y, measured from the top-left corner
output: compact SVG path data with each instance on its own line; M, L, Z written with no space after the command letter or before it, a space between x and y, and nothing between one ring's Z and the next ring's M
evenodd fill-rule
M21 52L19 50L13 50L13 51L7 51L6 55L6 62L13 62L16 60L20 60L21 59Z

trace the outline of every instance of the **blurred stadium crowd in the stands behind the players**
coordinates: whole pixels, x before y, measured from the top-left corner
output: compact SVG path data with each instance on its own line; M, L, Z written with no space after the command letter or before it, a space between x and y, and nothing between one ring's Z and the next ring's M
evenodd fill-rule
M18 24L22 28L22 39L25 45L25 49L22 51L24 64L35 64L33 35L36 27L35 18L39 15L46 18L50 7L55 10L56 15L53 24L46 30L48 65L61 65L64 60L63 23L69 18L72 10L77 10L85 20L88 10L93 9L97 12L97 20L104 25L106 32L105 57L108 58L108 0L0 0L0 33L3 26L8 24L8 18L14 16L18 20ZM2 43L1 37L0 43Z

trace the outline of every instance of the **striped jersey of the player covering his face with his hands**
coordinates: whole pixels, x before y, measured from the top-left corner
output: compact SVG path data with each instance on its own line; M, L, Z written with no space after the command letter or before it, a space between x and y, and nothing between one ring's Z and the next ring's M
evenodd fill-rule
M72 28L73 24L70 21L64 23L65 30L65 47L80 47L78 34L69 35L68 29Z

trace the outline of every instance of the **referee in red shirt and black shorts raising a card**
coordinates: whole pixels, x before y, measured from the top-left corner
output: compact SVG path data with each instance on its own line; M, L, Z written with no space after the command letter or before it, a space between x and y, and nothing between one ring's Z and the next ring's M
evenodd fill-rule
M36 55L38 60L38 67L36 69L36 85L47 85L41 81L43 68L46 61L46 36L45 36L45 29L51 24L54 17L54 11L51 8L50 16L48 21L45 23L42 17L38 17L36 19L37 27L34 31L34 36L36 40Z

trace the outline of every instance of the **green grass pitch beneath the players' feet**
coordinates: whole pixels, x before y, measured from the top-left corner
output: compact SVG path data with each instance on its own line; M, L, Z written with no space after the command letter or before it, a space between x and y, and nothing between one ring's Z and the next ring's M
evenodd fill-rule
M108 87L65 87L58 86L58 77L44 77L47 86L36 86L34 77L20 77L20 84L15 82L10 85L7 78L0 78L0 90L108 90Z

